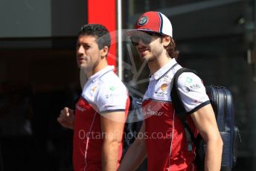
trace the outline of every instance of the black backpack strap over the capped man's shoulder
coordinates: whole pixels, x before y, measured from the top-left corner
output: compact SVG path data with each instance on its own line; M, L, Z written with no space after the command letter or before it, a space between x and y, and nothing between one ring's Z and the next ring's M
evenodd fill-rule
M170 83L170 88L171 88L170 97L173 102L175 113L179 117L179 120L181 120L182 125L185 127L185 134L188 142L188 150L191 151L192 150L191 139L193 141L193 144L196 147L199 146L199 143L196 141L196 138L193 136L191 128L188 126L187 120L185 119L187 112L185 110L184 104L182 103L182 99L180 97L179 90L178 90L178 78L184 72L192 72L194 74L197 74L196 71L193 71L189 68L180 68L178 71L176 71L176 73L173 76L173 80Z

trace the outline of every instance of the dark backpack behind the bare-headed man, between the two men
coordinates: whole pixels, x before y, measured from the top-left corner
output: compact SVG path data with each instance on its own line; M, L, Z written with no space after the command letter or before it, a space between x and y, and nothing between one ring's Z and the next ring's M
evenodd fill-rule
M132 145L133 141L135 141L138 132L141 129L143 123L143 114L142 114L142 99L135 97L131 93L129 93L129 113L127 116L127 122L124 125L124 144L123 144L123 152L122 158L129 146Z

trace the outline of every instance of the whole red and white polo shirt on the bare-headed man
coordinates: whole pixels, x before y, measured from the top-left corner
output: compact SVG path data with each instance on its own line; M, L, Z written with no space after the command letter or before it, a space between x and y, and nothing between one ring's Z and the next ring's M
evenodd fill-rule
M77 101L74 118L73 165L74 170L102 170L101 155L103 133L101 116L105 112L129 111L127 88L107 66L89 77L80 99ZM119 146L118 165L122 145Z

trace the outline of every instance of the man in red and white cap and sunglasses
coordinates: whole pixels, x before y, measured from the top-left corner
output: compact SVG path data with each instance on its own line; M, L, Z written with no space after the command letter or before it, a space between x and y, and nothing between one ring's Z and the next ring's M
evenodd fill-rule
M198 170L195 146L188 148L185 128L170 97L173 75L182 68L176 62L179 51L170 20L159 12L144 13L127 35L141 59L148 62L150 83L142 103L143 126L119 170L135 170L146 157L147 170ZM207 144L205 170L220 170L223 141L205 86L190 72L182 73L177 85L193 135L202 135Z

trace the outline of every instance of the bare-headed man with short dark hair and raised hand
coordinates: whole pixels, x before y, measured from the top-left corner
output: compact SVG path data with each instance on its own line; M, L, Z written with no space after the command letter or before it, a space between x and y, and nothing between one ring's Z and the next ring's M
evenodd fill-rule
M77 39L77 65L86 78L75 112L65 107L58 122L74 129L74 170L117 170L124 123L129 110L127 88L107 64L110 36L103 25L84 25Z

